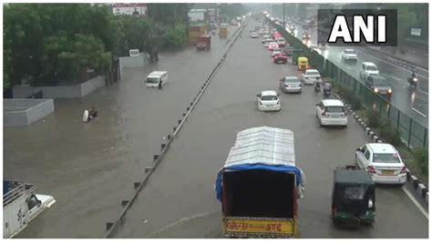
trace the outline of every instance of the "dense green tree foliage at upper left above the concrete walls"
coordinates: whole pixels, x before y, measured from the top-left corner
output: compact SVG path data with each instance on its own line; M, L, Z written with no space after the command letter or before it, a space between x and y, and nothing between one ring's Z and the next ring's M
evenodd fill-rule
M109 71L129 49L180 49L188 39L188 4L149 4L149 17L113 15L109 5L4 6L4 88L82 81L87 68Z

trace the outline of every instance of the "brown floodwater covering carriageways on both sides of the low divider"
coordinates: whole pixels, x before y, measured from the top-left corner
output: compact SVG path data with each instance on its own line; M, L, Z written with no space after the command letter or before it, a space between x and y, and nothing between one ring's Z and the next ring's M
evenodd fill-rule
M427 237L427 218L401 187L377 188L375 227L332 226L334 167L352 164L355 148L368 139L351 117L347 128L319 127L314 106L322 96L314 95L312 86L304 86L300 95L281 93L279 79L298 73L291 65L272 63L261 39L248 36L251 22L116 237L221 237L214 180L236 133L252 126L293 131L296 163L307 177L299 201L301 237ZM40 193L57 199L20 237L102 237L105 222L118 217L120 201L129 199L132 183L159 151L162 136L172 133L219 61L227 46L218 39L212 38L210 53L190 49L161 55L158 66L125 71L118 85L80 100L57 101L56 114L46 122L5 129L5 178L34 183ZM169 71L171 82L162 90L145 88L143 77L152 70ZM281 93L281 112L257 110L255 95L264 89ZM92 105L100 117L83 124L82 110Z

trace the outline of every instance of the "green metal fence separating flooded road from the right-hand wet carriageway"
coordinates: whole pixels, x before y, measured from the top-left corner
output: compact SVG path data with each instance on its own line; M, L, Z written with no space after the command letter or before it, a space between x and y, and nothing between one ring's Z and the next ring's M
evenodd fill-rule
M426 126L419 124L414 118L406 115L387 101L382 96L376 95L370 88L365 86L357 77L350 76L343 69L334 65L323 55L319 55L295 36L289 34L282 26L275 25L270 19L267 21L277 28L287 42L294 48L302 49L304 55L309 59L309 63L323 76L329 76L335 81L348 87L356 96L359 96L362 104L366 109L375 109L380 117L388 118L391 124L397 128L400 133L402 143L408 148L427 147L428 146L428 129Z

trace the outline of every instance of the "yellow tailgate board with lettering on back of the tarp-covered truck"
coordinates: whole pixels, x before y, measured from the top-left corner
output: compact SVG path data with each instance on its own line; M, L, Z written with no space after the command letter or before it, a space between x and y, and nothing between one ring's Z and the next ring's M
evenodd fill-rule
M294 222L291 219L279 220L227 217L224 219L223 224L226 234L294 234Z

